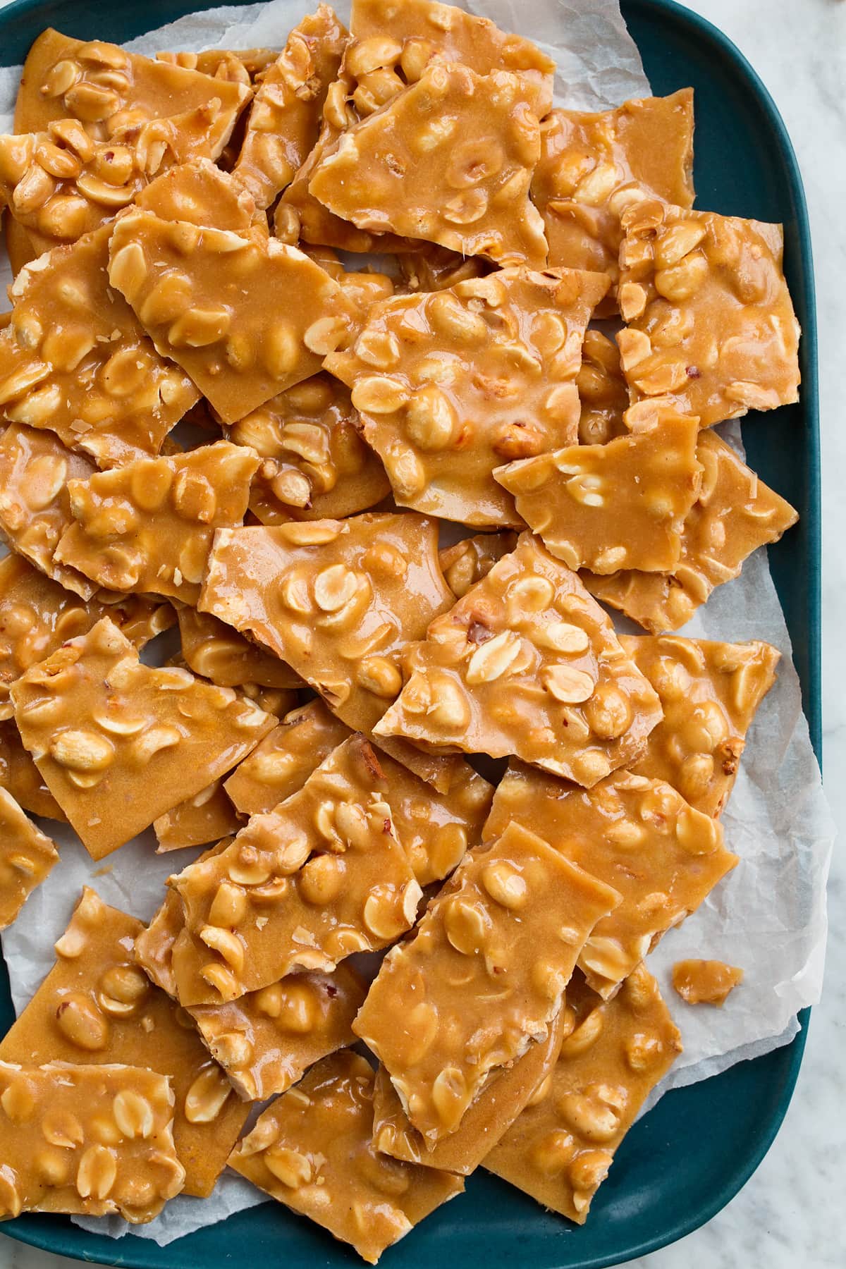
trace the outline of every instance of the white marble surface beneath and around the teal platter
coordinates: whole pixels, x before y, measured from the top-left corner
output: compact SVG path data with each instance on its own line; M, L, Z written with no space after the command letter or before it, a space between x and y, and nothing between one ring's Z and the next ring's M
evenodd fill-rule
M530 0L529 0L530 3ZM842 472L846 426L846 0L687 0L722 27L756 67L793 137L810 208L817 261L823 447L823 700L827 791L846 835L846 692L836 648L846 627ZM840 855L840 858L838 858ZM632 1269L842 1269L846 1265L846 867L836 848L826 992L785 1123L743 1190L714 1220ZM119 1245L115 1244L119 1255ZM0 1237L0 1269L77 1261Z

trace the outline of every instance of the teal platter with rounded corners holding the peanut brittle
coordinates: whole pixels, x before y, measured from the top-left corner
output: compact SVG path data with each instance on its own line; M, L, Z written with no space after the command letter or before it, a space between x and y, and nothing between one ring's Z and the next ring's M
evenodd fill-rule
M197 8L203 8L202 0L16 0L0 10L0 62L22 62L48 25L120 43ZM751 466L800 513L798 527L770 548L770 565L810 737L822 758L817 331L799 168L770 95L722 32L672 0L623 0L621 9L653 91L687 85L695 90L698 206L784 223L785 272L803 327L802 401L765 418L751 414L743 439ZM530 27L524 33L531 36ZM799 1015L802 1029L790 1044L662 1098L623 1142L586 1226L545 1213L520 1192L477 1173L463 1198L429 1217L382 1263L386 1269L444 1263L465 1269L601 1269L684 1237L737 1194L772 1143L799 1075L808 1015ZM13 1018L0 966L0 1028ZM271 1203L167 1247L132 1235L115 1241L88 1233L53 1216L22 1216L3 1232L79 1260L136 1269L218 1269L247 1258L284 1258L292 1266L360 1264L342 1244Z

